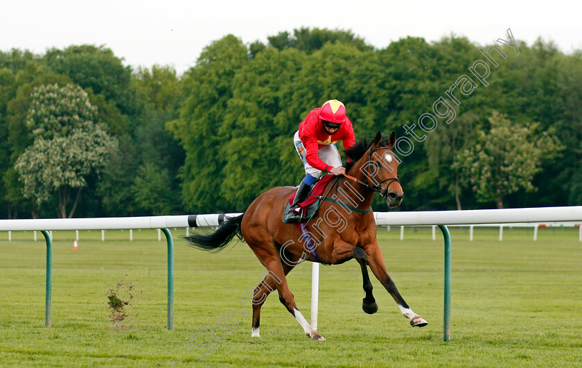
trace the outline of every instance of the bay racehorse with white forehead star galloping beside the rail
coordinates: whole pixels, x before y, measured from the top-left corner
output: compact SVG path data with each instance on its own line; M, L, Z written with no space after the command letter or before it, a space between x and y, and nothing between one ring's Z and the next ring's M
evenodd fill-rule
M265 279L254 289L252 297L252 337L260 337L261 306L267 295L277 290L279 300L297 319L306 335L313 340L325 340L299 312L285 279L285 275L303 259L332 265L350 259L358 261L364 279L362 309L373 314L378 310L378 304L372 295L369 266L410 324L426 326L427 322L406 304L386 272L371 211L376 192L385 198L389 207L396 207L402 201L403 189L397 173L399 160L391 150L395 140L394 132L389 138L378 132L373 141L360 140L346 150L349 159L346 175L328 182L324 191L326 200L321 200L319 210L307 227L310 242L296 225L283 222L285 204L296 190L290 186L265 191L243 215L227 218L211 234L186 237L193 247L218 251L229 245L234 236L239 236L267 268Z

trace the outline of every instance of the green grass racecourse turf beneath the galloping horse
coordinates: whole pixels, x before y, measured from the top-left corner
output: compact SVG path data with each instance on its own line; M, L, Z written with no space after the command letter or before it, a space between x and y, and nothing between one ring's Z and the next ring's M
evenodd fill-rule
M263 306L261 339L251 317L233 313L264 269L245 244L219 254L175 238L174 330L166 331L166 241L155 230L55 231L53 315L44 327L44 238L0 232L0 366L62 367L451 367L582 366L582 243L577 229L451 229L452 338L443 342L443 241L430 229L379 229L388 272L428 326L412 328L373 279L379 310L361 309L362 276L355 261L321 267L319 332L309 340L271 296ZM310 263L288 277L310 315ZM109 321L108 290L134 286L123 326ZM251 313L251 305L245 300ZM188 339L231 313L231 333L218 333L212 352L193 351ZM236 326L236 322L239 323ZM234 328L236 326L236 328ZM206 335L208 338L209 336ZM197 341L202 341L198 338ZM172 364L170 360L175 363Z

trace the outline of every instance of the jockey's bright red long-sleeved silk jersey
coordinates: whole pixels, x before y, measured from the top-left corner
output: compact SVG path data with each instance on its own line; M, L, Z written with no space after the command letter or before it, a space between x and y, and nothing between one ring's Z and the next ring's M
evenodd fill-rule
M344 143L344 149L351 148L355 144L355 137L353 135L353 126L346 117L346 122L340 125L340 129L333 134L328 134L324 124L319 119L321 108L312 109L306 116L305 120L299 123L299 139L303 142L306 149L306 160L312 168L317 170L329 172L333 167L326 164L317 156L319 148L328 144L333 144L338 141Z

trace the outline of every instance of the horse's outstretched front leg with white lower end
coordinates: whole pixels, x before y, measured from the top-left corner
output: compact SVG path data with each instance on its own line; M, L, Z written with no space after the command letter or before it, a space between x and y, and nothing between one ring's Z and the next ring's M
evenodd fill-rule
M380 250L378 242L374 240L374 242L365 247L364 250L366 251L366 255L368 257L368 264L373 274L376 276L378 281L382 283L382 286L384 286L386 290L389 292L389 294L394 298L402 314L410 320L410 324L416 327L426 326L428 322L426 322L425 319L423 319L421 316L414 313L412 309L410 309L408 304L406 304L406 301L404 301L402 295L400 295L400 292L398 292L398 289L396 288L394 281L392 281L388 272L386 272L384 257L382 256L382 250Z

